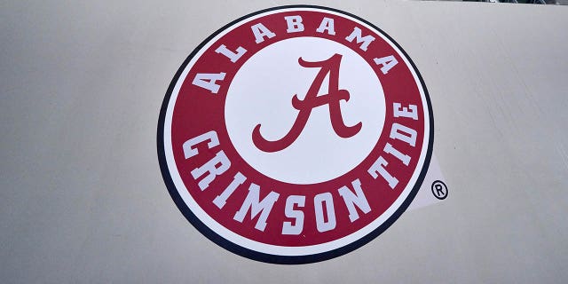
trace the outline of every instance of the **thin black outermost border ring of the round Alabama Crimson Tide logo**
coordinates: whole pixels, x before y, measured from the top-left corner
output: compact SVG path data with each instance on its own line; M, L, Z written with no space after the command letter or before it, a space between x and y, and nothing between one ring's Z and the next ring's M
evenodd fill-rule
M382 225L379 225L373 232L368 233L367 235L360 238L359 240L353 241L350 244L345 245L341 248L335 248L335 249L332 249L332 250L329 250L329 251L326 251L326 252L321 252L321 253L312 254L312 255L304 255L304 256L272 255L272 254L266 254L266 253L258 252L256 250L252 250L250 248L244 248L244 247L241 247L241 246L239 246L239 245L237 245L237 244L235 244L231 241L226 240L225 238L223 238L222 236L220 236L219 234L217 234L213 230L211 230L207 225L204 225L198 217L195 217L195 215L193 214L191 209L189 209L187 207L187 205L185 204L185 201L183 201L183 199L181 198L181 196L177 192L177 188L174 185L172 177L170 176L170 170L168 170L168 165L167 165L167 162L166 162L166 156L165 156L165 151L164 151L164 141L163 141L165 116L166 116L166 111L168 109L168 105L169 105L169 102L170 102L171 93L173 92L174 87L175 87L180 75L184 71L184 69L187 66L187 64L189 63L189 61L191 59L193 59L195 54L198 51L200 51L201 48L203 48L203 46L205 44L209 43L209 41L212 40L219 33L223 32L225 29L233 26L237 22L240 22L241 20L246 20L250 17L253 17L257 14L264 13L264 12L271 12L271 11L282 10L282 9L291 9L291 8L313 8L313 9L320 9L320 10L324 10L324 11L341 13L343 15L346 15L348 17L351 17L351 18L354 18L354 19L357 19L357 20L360 20L360 21L366 23L370 27L375 28L378 32L383 34L383 36L386 36L390 40L390 42L393 43L398 48L398 50L400 52L402 52L402 55L404 55L406 57L406 59L408 60L410 65L413 67L416 76L418 77L418 79L420 80L420 83L422 84L422 90L424 91L424 99L426 100L426 105L427 105L426 107L428 107L428 111L429 111L429 114L430 114L429 117L428 117L428 121L430 123L430 135L429 135L429 140L428 140L427 153L426 153L426 156L425 156L425 159L424 159L424 163L422 165L422 170L421 170L420 175L418 176L418 178L416 180L416 183L413 186L412 191L408 194L408 196L406 197L406 200L402 202L400 207L398 207L398 209ZM261 262L271 263L271 264L310 264L310 263L315 263L315 262L335 258L337 256L343 256L344 254L347 254L347 253L349 253L349 252L351 252L351 251L353 251L357 248L362 247L363 245L367 244L367 242L374 240L378 235L380 235L381 233L386 231L390 227L390 225L392 225L398 219L398 217L400 217L402 215L402 213L408 208L410 203L414 200L416 193L418 193L418 190L422 186L422 182L423 182L424 177L426 176L426 172L428 171L428 168L430 166L430 159L431 159L432 150L433 150L432 148L433 148L433 143L434 143L434 119L433 119L433 117L434 117L434 115L433 115L433 112L432 112L430 95L429 95L428 90L426 88L426 84L424 83L424 80L422 79L422 75L420 74L420 72L418 71L418 69L414 65L413 60L410 59L410 57L408 56L406 51L404 51L402 49L402 47L392 37L387 35L381 28L377 28L375 25L373 25L369 21L363 20L360 17L355 16L355 15L349 13L349 12L343 12L341 10L334 9L334 8L328 8L328 7L324 7L324 6L318 6L318 5L276 6L276 7L260 10L260 11L257 11L257 12L249 13L248 15L242 16L241 18L239 18L237 20L233 20L232 22L226 24L223 28L217 29L217 31L215 33L211 34L205 40L203 40L189 54L189 56L185 59L184 63L182 63L182 65L177 69L176 75L174 75L173 79L171 80L170 86L168 87L168 91L166 91L166 95L165 95L165 97L162 101L162 107L160 109L160 116L158 118L158 130L157 130L158 162L160 163L160 169L162 171L162 177L163 177L164 183L168 188L168 191L170 193L172 200L176 203L177 209L179 209L182 212L182 214L189 221L189 223L191 223L200 233L205 235L210 241L215 242L218 246L225 248L225 249L233 252L234 254L237 254L239 256L244 256L244 257L247 257L249 259L256 260L256 261L261 261ZM426 118L424 118L424 119L426 119Z

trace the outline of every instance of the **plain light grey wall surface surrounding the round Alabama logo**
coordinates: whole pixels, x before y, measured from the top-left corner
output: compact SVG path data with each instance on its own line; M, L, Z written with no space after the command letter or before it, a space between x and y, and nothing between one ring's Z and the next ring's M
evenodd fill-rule
M568 279L568 7L312 1L382 28L434 110L445 201L316 264L207 240L162 181L163 96L203 39L289 1L0 4L0 279L516 282Z

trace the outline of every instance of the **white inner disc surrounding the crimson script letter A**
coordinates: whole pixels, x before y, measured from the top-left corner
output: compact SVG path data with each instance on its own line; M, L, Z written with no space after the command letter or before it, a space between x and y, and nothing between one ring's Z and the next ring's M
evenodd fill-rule
M253 144L252 132L260 124L267 140L283 138L299 111L292 98L304 99L319 67L302 67L306 61L323 61L341 54L339 89L350 93L340 103L343 123L362 128L341 138L332 127L329 106L312 108L304 130L287 148L267 153ZM329 75L318 95L327 94ZM343 44L318 37L296 37L273 43L256 52L234 76L225 100L229 138L241 157L267 177L291 184L316 184L340 177L359 165L375 147L383 131L383 88L367 62Z

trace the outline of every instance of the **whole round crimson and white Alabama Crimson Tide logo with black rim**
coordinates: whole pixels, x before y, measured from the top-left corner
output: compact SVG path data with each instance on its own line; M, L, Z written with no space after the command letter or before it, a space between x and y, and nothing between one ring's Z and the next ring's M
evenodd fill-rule
M286 6L235 20L185 59L158 155L209 240L302 264L392 225L422 184L432 134L426 87L390 36L345 12Z

